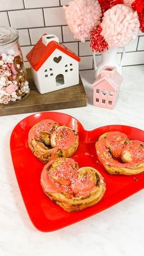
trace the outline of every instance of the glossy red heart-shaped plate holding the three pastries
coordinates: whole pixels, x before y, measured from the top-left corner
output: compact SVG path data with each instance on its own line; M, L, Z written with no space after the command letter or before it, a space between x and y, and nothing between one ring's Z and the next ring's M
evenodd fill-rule
M71 158L77 161L80 167L91 166L97 169L105 178L107 190L98 204L76 213L68 213L43 193L40 186L40 176L44 164L32 154L27 145L29 130L35 123L43 119L54 120L60 125L65 124L79 134L79 147ZM87 131L77 119L60 112L33 114L21 120L15 126L10 137L13 166L26 210L38 230L49 232L81 221L112 207L112 205L144 188L144 174L134 176L110 175L103 165L99 163L95 142L98 141L98 137L101 134L107 131L120 131L121 133L126 133L131 140L138 139L143 141L144 132L137 128L126 125L107 125Z

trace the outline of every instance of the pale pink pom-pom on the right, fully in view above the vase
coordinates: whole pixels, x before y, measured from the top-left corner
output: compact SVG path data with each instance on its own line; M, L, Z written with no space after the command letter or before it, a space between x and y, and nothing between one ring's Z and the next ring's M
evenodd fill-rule
M121 47L137 37L140 23L137 12L117 4L104 13L101 27L101 35L109 47Z

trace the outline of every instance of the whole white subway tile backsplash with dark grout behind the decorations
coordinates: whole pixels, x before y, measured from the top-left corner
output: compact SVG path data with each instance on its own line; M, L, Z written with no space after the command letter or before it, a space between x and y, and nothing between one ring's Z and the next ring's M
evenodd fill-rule
M20 45L27 67L26 54L40 39L41 35L56 34L59 42L81 57L80 69L93 68L93 51L90 42L79 42L67 26L62 5L73 0L0 0L0 26L12 26L18 29ZM8 15L7 15L7 12ZM123 65L144 64L144 34L125 46L126 55ZM139 38L139 40L138 40ZM118 49L117 61L120 63L122 49ZM101 54L96 53L96 64L101 61Z

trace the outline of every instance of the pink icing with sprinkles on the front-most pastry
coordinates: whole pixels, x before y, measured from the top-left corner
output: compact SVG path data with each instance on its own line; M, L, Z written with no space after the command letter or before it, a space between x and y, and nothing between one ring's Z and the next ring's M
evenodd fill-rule
M61 158L63 163L51 169L52 159L41 172L41 185L45 192L66 192L67 197L87 196L96 188L93 175L79 175L78 164L72 158ZM76 164L76 167L72 167ZM103 178L103 177L101 177Z

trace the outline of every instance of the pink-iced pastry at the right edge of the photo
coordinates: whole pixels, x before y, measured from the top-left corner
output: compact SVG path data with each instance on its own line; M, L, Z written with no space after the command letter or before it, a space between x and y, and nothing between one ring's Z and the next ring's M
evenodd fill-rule
M102 134L96 142L96 153L109 174L133 175L144 171L144 143L129 141L124 133Z

